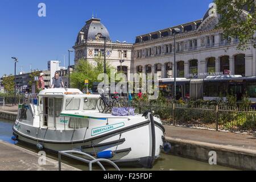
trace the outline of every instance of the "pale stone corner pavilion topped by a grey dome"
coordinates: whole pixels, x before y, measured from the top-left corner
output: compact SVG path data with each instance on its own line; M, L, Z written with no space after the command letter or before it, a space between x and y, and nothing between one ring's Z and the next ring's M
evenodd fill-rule
M117 71L128 74L131 69L131 49L133 44L112 42L109 31L101 23L101 19L92 18L85 22L77 35L75 49L75 64L80 59L96 63L95 59L104 59L104 39L106 38L106 61Z

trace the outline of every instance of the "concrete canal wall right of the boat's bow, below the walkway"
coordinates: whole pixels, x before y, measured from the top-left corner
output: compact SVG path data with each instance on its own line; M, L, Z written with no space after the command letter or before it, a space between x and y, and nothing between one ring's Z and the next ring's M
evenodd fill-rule
M208 163L210 158L209 152L215 151L217 154L217 165L243 170L256 170L255 150L171 137L166 137L166 140L171 143L170 154L172 155Z

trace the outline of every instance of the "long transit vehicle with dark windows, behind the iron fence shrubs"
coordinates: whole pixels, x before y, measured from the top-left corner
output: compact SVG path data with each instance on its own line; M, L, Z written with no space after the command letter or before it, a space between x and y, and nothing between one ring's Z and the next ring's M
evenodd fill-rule
M159 89L164 96L174 98L174 78L160 78ZM251 102L256 102L256 77L218 75L204 79L176 78L177 100L216 100L220 96L226 100L228 94L235 96L237 101L247 94Z

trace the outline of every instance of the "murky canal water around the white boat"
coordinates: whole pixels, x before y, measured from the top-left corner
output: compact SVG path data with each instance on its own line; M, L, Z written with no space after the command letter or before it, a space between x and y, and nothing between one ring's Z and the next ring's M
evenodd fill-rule
M4 140L5 142L16 144L20 147L27 148L28 150L38 152L38 150L35 147L29 146L27 144L21 144L16 143L13 140L11 140L11 137L13 135L12 126L14 125L13 121L3 121L0 119L0 140ZM57 160L57 155L55 154L47 154L48 158L52 158ZM76 168L82 169L82 170L88 170L88 165L81 162L76 162L74 160L64 159L64 163L67 163L71 166L74 166ZM99 169L99 168L94 168ZM107 169L114 169L114 168L108 168ZM121 168L121 170L124 171L131 171L131 170L155 170L155 171L181 171L181 170L193 170L193 171L230 171L230 170L236 170L229 167L223 167L218 165L209 165L208 163L199 162L197 160L187 159L187 158L181 158L179 156L174 155L168 155L168 154L162 154L161 157L156 161L154 168L147 169L147 168Z

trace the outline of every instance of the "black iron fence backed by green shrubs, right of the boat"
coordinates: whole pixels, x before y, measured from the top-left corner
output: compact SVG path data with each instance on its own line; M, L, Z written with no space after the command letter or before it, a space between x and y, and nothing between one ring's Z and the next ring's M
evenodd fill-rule
M199 127L216 131L256 132L256 111L252 108L213 105L168 106L133 105L136 113L154 110L163 123L173 126Z

